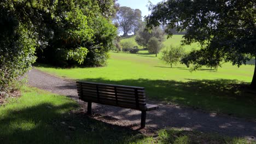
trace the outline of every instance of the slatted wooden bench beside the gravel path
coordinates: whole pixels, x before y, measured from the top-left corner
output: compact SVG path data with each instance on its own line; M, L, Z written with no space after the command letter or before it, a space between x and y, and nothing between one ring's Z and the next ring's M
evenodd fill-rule
M91 103L135 109L142 112L141 128L144 128L146 124L146 111L159 108L157 105L146 104L144 87L77 81L77 91L79 99L88 102L87 113L89 115Z

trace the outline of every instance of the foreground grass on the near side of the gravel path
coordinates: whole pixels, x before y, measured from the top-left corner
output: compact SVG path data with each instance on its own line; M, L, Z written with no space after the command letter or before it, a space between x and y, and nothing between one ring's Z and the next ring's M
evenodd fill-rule
M67 97L23 87L20 98L0 106L0 143L247 143L183 129L162 129L153 136L97 121L77 111Z

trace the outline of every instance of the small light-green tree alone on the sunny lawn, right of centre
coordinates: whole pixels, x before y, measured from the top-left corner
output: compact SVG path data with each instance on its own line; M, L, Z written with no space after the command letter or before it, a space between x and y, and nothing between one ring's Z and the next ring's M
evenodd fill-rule
M181 61L181 58L185 55L185 50L182 46L170 46L167 49L162 51L162 57L160 58L166 64L170 64L172 68L172 64L176 64Z

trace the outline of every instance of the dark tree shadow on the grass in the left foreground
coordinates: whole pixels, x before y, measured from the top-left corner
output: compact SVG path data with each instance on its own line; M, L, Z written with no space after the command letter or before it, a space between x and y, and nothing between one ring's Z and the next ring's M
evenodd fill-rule
M8 110L0 118L0 143L123 143L136 130L107 124L84 113L68 112L74 103L41 103ZM143 135L136 139L143 139Z

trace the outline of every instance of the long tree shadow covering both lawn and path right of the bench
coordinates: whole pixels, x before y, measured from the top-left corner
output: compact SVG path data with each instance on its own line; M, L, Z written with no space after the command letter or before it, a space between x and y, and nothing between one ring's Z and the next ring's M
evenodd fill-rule
M191 130L211 131L230 136L250 136L254 134L255 123L237 121L230 116L255 118L255 94L246 93L249 83L237 80L189 80L188 82L167 80L105 80L84 79L84 81L111 83L116 85L145 87L147 98L176 102L193 107L181 109L166 103L149 101L160 105L159 110L147 114L146 125L154 128L176 127ZM86 110L86 107L84 108ZM207 110L213 113L198 111ZM139 124L140 111L120 107L93 104L93 113L129 119ZM218 117L216 115L222 115Z

